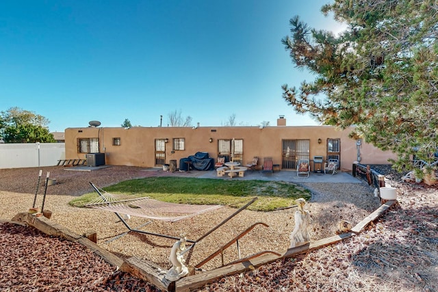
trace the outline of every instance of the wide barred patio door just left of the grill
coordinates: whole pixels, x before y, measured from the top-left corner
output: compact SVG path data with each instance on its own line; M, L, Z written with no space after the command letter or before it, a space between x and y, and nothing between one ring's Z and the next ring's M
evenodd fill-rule
M296 164L300 159L309 159L310 140L283 140L283 155L281 168L296 170Z

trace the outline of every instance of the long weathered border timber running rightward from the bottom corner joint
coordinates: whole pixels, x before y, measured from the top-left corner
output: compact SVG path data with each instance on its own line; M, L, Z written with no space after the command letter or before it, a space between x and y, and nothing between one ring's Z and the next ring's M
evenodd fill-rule
M281 256L276 256L275 254L263 254L263 256L252 258L250 261L235 263L233 265L227 265L224 267L220 267L218 269L206 271L202 274L181 278L177 280L177 282L175 283L175 291L185 292L196 288L200 288L205 286L205 284L214 282L218 278L241 273L242 271L248 271L249 269L254 269L255 267L259 267L266 263L272 263L273 261L276 261L279 258L289 258L294 256L295 254L300 254L302 252L308 252L309 250L322 248L323 246L337 243L338 241L342 241L343 239L352 237L353 235L355 234L343 233L341 235L335 235L333 237L327 237L325 239L320 239L317 241L313 241L311 243L299 245L296 246L295 248L289 248L289 250L282 252Z

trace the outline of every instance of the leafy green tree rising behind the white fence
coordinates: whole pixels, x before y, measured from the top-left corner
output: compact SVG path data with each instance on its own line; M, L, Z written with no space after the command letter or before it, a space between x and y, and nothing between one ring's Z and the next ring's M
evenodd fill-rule
M18 107L0 113L0 135L5 143L54 143L47 124L44 116Z

